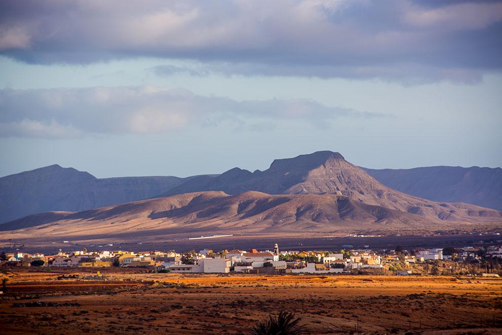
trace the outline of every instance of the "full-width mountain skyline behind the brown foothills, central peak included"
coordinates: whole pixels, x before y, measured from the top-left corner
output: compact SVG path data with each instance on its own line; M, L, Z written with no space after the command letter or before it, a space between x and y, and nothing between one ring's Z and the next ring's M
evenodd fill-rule
M421 174L410 177L406 174L424 169L430 170L425 178ZM442 172L443 170L446 172ZM458 177L463 180L463 184L458 184L455 180L451 181L452 176L457 175L451 173L451 170L463 171L460 173L462 178L466 175L465 172L470 172L467 175L471 178ZM477 171L484 174L479 175ZM382 177L382 174L388 176ZM399 174L404 176L400 178ZM264 171L250 172L233 168L220 175L187 178L154 176L98 179L88 172L52 164L0 178L0 222L40 212L81 211L143 198L210 190L222 190L228 194L248 190L270 194L345 194L367 204L411 212L431 211L425 207L425 199L502 209L501 185L500 168L443 166L374 170L353 165L343 155L332 151L274 159ZM429 192L420 192L425 186L437 187ZM429 208L435 208L434 215L451 214L445 214L438 205L428 205Z

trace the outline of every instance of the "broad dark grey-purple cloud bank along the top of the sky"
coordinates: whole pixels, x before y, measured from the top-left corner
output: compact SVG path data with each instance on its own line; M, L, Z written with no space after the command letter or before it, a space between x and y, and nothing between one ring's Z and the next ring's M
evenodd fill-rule
M502 68L499 1L5 0L0 9L0 52L33 63L147 56L210 71L230 64L230 74L412 82L473 82Z

